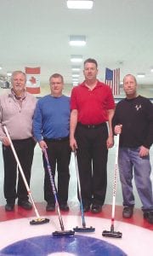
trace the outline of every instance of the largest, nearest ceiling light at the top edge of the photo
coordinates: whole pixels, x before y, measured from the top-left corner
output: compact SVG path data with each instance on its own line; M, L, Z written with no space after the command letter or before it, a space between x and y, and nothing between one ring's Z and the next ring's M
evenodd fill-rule
M93 0L67 0L68 9L92 9Z

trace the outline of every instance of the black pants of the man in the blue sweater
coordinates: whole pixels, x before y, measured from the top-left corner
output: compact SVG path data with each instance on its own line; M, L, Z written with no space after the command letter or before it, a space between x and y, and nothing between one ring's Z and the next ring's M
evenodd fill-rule
M57 167L58 172L58 186L57 195L59 204L66 203L68 200L68 188L69 188L69 165L71 160L71 148L69 139L65 141L49 141L45 140L48 145L48 160L52 169L53 177L55 175L55 170ZM42 155L43 166L45 169L44 177L44 200L49 203L54 203L54 194L51 186L50 178L48 175L48 168L46 160Z

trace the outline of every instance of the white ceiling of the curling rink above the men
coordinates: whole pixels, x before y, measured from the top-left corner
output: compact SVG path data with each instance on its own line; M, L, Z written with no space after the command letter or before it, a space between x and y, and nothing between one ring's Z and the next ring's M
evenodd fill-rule
M68 44L86 35L84 47ZM95 58L99 79L105 67L146 73L139 84L153 85L153 1L94 0L94 9L67 9L66 0L0 1L0 73L41 67L41 80L61 73L71 83L71 55ZM82 72L80 81L82 81Z

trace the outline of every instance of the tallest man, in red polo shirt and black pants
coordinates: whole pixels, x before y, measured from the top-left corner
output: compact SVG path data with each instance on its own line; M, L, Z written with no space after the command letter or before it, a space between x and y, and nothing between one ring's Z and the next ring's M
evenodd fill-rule
M97 79L97 61L84 61L83 74L83 83L71 91L70 144L73 151L77 149L83 210L91 207L91 212L98 213L105 202L115 102L111 88Z

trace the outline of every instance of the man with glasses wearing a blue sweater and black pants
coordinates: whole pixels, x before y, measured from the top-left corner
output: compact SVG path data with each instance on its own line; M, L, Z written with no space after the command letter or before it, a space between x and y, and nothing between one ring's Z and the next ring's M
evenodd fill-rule
M58 172L58 200L62 211L69 211L67 205L69 187L69 164L71 148L69 143L70 126L70 98L62 95L64 79L59 73L54 73L50 79L51 94L42 97L37 102L33 119L34 136L42 150L47 148L48 160L55 175ZM46 161L43 158L45 169L44 199L47 201L46 211L54 211L54 194L51 188Z

